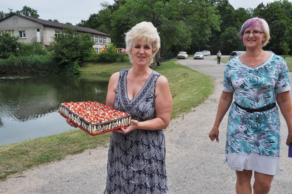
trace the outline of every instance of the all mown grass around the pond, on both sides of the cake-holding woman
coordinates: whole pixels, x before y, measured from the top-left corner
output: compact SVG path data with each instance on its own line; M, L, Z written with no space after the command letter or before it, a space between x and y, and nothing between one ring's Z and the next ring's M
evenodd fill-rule
M86 63L81 72L86 75L112 75L131 67L131 63ZM172 118L191 111L213 92L213 79L173 61L162 63L155 69L169 82L173 96ZM81 129L43 138L0 146L0 179L9 174L22 172L36 165L55 162L67 155L81 153L88 148L106 146L110 133L90 136Z

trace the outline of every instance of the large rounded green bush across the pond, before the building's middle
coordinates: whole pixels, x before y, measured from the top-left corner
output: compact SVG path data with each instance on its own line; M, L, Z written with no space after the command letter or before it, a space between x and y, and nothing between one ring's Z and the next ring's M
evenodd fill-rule
M94 42L89 34L75 35L76 30L65 28L64 34L53 38L50 42L53 46L49 47L53 51L55 60L61 67L69 69L71 73L78 73L80 64L86 57L92 53Z

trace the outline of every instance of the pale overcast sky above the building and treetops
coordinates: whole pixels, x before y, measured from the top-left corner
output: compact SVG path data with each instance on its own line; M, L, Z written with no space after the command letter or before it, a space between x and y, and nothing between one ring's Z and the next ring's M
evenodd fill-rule
M292 1L292 0L290 0ZM25 3L24 3L25 2ZM50 0L50 1L35 1L35 0L0 0L0 11L8 12L8 8L16 10L22 10L23 6L28 6L38 11L39 18L57 19L61 23L70 22L73 25L79 23L81 20L87 20L89 15L97 13L101 7L100 3L103 0ZM114 0L107 0L110 4L113 4ZM273 2L273 0L229 0L230 4L235 8L255 8L263 2Z

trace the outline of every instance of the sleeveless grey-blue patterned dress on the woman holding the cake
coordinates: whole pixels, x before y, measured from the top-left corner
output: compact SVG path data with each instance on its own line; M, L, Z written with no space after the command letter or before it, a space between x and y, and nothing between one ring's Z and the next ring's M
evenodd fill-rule
M152 70L141 91L128 99L126 77L120 71L114 108L131 114L132 119L155 118L155 86L159 73ZM168 194L163 130L135 129L127 134L112 131L104 194Z

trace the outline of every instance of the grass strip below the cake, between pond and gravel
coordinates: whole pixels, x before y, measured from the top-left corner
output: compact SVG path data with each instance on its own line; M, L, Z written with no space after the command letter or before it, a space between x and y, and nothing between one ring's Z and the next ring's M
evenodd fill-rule
M28 168L64 159L88 148L106 146L110 133L90 136L81 129L0 146L0 180Z

